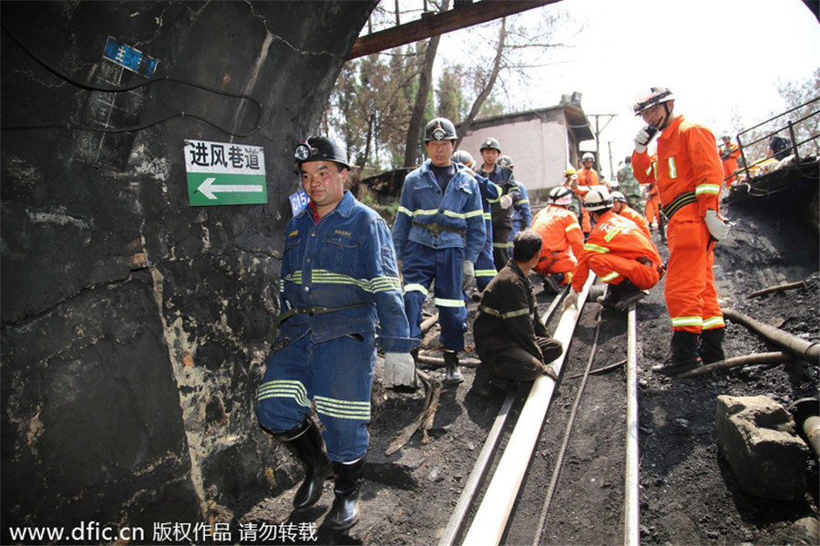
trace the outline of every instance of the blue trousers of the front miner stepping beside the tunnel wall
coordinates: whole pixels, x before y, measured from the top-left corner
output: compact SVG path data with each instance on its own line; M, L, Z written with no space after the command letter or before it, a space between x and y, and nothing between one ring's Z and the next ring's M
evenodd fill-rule
M375 355L373 334L313 343L307 332L292 341L268 360L256 402L261 426L273 433L295 428L311 412L313 400L330 458L361 458L370 442Z

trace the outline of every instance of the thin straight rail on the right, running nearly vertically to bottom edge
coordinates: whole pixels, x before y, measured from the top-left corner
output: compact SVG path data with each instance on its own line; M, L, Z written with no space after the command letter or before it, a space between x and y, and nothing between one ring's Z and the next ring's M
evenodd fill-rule
M638 462L638 341L635 325L635 304L627 314L627 429L626 470L624 471L625 500L623 509L623 543L638 546L641 543L639 513Z

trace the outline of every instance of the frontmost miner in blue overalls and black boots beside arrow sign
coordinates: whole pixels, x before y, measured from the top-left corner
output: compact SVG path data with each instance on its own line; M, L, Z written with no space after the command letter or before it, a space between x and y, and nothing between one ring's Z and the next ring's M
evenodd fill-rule
M415 375L410 350L418 340L409 335L387 225L344 190L350 167L342 146L310 137L295 156L311 201L285 231L279 334L256 414L302 462L295 509L313 506L333 476L325 522L344 530L359 519L376 345L385 360ZM323 434L310 415L312 402Z

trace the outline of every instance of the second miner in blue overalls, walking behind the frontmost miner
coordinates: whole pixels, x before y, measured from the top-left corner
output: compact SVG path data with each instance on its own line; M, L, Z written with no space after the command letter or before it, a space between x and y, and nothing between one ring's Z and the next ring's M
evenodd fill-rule
M421 335L422 309L430 284L441 325L446 376L464 381L458 351L464 350L466 304L463 287L475 277L478 253L484 247L484 209L476 178L451 158L456 128L446 118L425 127L427 159L405 178L393 225L395 252L405 281L405 309L410 334Z

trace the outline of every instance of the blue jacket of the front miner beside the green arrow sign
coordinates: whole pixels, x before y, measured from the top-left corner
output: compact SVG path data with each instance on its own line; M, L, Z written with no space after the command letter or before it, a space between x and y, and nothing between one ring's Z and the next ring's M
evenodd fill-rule
M378 213L344 191L321 221L305 207L285 233L282 313L317 305L351 307L293 315L282 322L280 335L296 339L310 331L313 342L322 343L375 332L385 352L406 353L418 345L410 337L390 231Z

